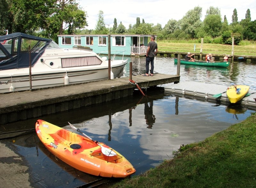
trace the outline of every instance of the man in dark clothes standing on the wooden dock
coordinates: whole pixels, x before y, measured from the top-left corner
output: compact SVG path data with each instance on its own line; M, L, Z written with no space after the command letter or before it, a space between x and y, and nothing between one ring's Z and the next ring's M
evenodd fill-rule
M155 42L155 36L152 35L150 37L150 42L148 43L148 49L146 53L146 74L143 74L143 76L153 76L154 71L154 58L158 51L157 49L157 43ZM149 73L149 63L151 64L150 74Z

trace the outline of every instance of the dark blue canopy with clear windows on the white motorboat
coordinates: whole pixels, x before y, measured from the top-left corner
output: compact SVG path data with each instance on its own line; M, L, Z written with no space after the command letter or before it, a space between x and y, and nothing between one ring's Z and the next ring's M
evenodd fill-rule
M52 39L24 33L0 36L0 70L29 67L43 54L46 47L60 48Z

